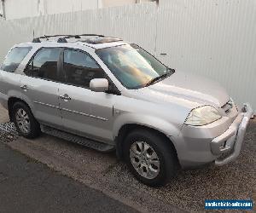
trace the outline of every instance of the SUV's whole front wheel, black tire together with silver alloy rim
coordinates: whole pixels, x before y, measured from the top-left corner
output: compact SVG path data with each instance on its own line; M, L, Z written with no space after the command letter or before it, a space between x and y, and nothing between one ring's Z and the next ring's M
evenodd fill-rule
M164 186L177 174L177 156L170 141L152 130L132 131L125 138L123 148L125 162L131 173L150 187ZM144 155L140 150L144 150ZM150 157L151 161L147 161Z

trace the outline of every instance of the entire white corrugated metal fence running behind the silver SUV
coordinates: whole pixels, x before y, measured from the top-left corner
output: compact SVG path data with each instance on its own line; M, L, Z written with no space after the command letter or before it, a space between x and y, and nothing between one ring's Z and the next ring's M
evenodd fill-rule
M160 0L0 20L0 60L15 43L46 34L100 33L138 43L166 65L217 80L256 112L256 1Z

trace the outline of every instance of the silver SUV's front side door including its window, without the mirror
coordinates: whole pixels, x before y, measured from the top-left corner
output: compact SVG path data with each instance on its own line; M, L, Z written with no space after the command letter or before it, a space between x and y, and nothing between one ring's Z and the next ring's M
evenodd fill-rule
M65 130L98 141L113 141L113 96L91 91L90 80L106 78L90 55L64 49L67 82L60 84L60 108Z

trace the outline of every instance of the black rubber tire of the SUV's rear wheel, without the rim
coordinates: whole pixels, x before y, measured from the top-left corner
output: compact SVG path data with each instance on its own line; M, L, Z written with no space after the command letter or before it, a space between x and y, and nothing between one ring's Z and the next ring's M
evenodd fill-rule
M20 131L19 125L17 124L17 121L16 121L16 113L19 109L23 109L26 112L26 114L28 115L29 120L30 120L31 128L30 128L30 132L27 133L27 134ZM26 138L31 138L32 139L32 138L37 137L40 134L40 126L38 124L38 121L36 120L36 118L34 118L30 108L27 107L25 103L16 102L14 104L13 110L12 110L12 117L13 117L12 120L15 123L15 127L16 127L16 129L17 129L17 131L19 132L20 135L22 135Z

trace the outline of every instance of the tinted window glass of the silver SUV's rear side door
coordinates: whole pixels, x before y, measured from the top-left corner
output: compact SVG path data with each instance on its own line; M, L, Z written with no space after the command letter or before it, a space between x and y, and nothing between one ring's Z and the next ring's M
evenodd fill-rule
M40 49L26 67L26 75L60 81L58 74L58 60L61 55L61 48Z

